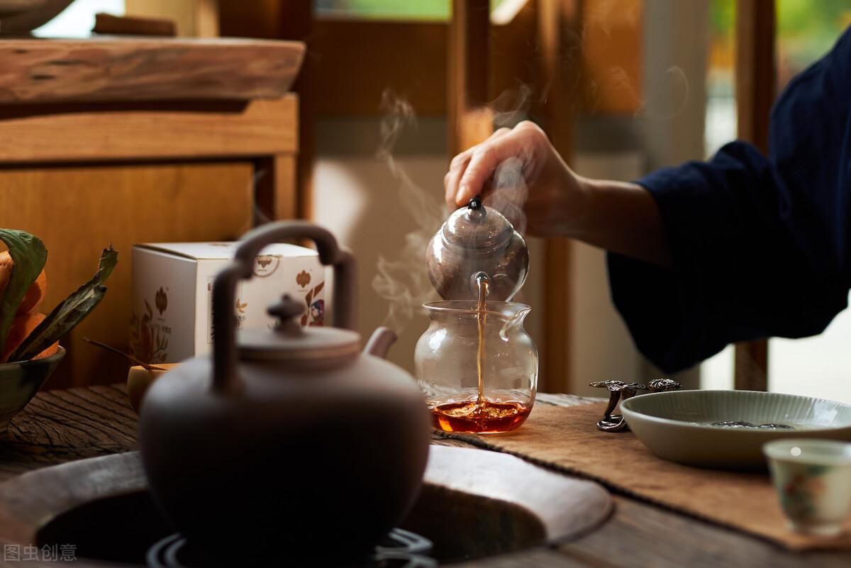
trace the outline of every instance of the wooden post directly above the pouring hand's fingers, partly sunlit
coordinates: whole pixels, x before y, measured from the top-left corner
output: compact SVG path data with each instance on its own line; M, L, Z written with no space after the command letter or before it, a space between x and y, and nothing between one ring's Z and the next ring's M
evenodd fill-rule
M449 23L449 156L487 139L493 131L488 104L488 0L453 0Z

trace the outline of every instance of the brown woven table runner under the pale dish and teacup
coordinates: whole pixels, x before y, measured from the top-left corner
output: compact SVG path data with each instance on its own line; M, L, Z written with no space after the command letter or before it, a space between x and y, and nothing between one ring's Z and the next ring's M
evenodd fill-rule
M605 433L605 404L535 406L520 429L503 435L442 433L596 480L609 490L776 542L785 548L851 549L851 520L839 537L787 528L768 474L693 468L655 457L631 432Z

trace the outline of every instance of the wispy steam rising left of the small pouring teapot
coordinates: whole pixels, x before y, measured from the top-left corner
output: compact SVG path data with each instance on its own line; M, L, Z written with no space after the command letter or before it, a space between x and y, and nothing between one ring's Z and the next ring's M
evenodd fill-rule
M406 128L416 126L414 109L407 100L389 91L381 96L381 109L386 114L381 121L376 156L386 162L397 180L399 204L416 225L405 236L397 260L379 256L377 274L372 282L375 293L390 304L384 325L398 333L414 317L414 310L419 310L422 304L437 298L426 269L426 247L443 224L443 202L439 199L443 192L437 189L426 191L414 184L393 157L393 148L399 135Z

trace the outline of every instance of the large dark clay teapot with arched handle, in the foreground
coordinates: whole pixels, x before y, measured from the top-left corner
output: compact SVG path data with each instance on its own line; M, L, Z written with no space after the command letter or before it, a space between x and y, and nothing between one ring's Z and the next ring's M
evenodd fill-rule
M237 340L238 281L260 249L315 241L334 267L334 328L303 328L304 304L269 309L272 330ZM430 439L414 378L381 357L395 335L360 352L355 259L314 224L267 224L243 236L213 290L212 355L151 386L140 416L151 491L193 550L230 565L323 565L357 558L405 514ZM237 563L237 564L234 564ZM308 564L303 564L308 563Z

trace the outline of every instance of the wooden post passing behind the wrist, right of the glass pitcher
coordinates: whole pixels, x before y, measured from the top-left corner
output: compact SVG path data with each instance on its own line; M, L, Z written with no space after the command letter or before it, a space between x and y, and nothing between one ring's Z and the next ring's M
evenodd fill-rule
M540 88L545 102L540 109L543 127L556 150L570 162L573 140L573 105L581 59L579 6L576 0L538 0ZM544 345L541 359L542 389L570 389L570 281L572 246L568 239L550 238L545 245Z

